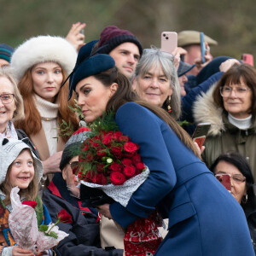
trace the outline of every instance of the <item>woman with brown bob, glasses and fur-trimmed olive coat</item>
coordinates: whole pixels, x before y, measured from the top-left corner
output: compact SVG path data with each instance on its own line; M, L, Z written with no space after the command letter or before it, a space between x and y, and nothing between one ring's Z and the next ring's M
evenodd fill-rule
M218 84L195 102L196 123L212 124L202 154L212 166L219 154L236 151L243 155L256 175L256 71L235 64Z

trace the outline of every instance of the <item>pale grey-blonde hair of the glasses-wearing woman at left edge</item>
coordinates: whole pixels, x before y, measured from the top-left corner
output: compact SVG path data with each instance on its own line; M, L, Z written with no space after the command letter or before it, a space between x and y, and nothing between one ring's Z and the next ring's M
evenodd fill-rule
M22 96L20 95L20 90L18 89L14 74L12 73L11 70L12 69L10 67L0 67L0 78L3 77L6 79L9 79L10 83L13 86L16 109L15 109L12 120L16 121L16 120L24 119L24 116L25 116L24 103L23 103Z

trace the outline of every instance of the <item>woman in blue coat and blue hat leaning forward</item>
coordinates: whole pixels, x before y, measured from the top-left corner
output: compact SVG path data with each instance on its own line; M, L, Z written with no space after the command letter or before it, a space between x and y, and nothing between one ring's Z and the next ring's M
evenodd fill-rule
M111 56L84 54L87 47L79 51L71 84L84 120L113 111L119 131L140 146L150 170L126 207L105 204L102 214L126 228L157 207L169 218L169 232L155 255L254 255L241 207L196 157L188 134L165 110L138 100Z

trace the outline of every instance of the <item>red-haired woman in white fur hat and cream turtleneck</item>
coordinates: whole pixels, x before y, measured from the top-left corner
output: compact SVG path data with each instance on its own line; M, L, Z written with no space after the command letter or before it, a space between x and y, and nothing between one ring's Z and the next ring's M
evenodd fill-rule
M15 127L26 132L44 161L44 174L59 170L62 149L68 137L61 131L65 121L79 127L79 119L67 103L68 84L61 88L72 72L77 53L66 39L51 36L30 38L14 52L11 67L23 97L25 119Z

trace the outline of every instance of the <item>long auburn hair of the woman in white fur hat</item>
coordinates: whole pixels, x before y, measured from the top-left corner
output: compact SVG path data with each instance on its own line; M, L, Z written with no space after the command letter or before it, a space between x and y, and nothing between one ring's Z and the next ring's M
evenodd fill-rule
M63 68L61 70L63 75L63 83L63 81L67 79L67 74ZM27 70L18 84L20 94L24 101L25 119L15 122L15 127L25 131L28 136L37 134L42 129L41 116L33 100L33 95L35 92L33 90L31 72L32 68ZM68 83L66 83L59 90L59 93L56 96L56 100L59 104L58 122L61 123L62 120L65 120L67 124L70 122L71 125L73 125L73 131L76 131L79 129L79 119L73 110L68 107L68 105L70 105L72 108L75 108L74 96L67 103L68 92ZM63 137L63 139L67 142L68 137Z

